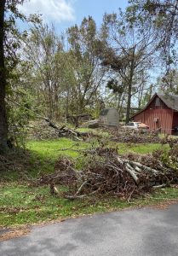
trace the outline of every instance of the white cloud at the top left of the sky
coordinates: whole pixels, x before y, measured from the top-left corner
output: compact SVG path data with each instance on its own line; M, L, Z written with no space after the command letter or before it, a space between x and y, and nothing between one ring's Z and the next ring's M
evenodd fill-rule
M74 20L74 9L72 0L27 0L20 11L29 14L41 14L44 20L66 21Z

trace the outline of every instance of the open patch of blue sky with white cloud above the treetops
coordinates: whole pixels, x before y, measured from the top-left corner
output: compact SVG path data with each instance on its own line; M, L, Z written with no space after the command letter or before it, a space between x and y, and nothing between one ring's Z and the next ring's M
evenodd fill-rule
M26 0L20 10L26 15L42 14L47 23L54 23L57 31L80 24L84 16L92 16L100 26L102 15L124 9L127 0Z

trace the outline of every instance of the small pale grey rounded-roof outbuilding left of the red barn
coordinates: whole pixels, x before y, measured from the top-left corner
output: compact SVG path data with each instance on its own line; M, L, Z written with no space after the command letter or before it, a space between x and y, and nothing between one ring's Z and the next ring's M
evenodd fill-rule
M99 117L100 125L118 127L119 114L116 108L105 108L100 111Z

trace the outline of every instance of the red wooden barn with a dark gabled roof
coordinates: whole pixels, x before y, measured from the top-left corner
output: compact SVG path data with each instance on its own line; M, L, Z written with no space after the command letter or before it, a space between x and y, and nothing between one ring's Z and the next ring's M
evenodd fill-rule
M165 96L156 93L140 112L132 116L135 122L149 126L150 131L173 134L178 127L178 96Z

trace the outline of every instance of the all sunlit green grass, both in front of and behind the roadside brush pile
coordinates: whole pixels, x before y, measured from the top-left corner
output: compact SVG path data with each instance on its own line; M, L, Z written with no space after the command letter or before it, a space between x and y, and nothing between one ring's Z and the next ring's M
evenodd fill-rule
M29 187L28 179L40 177L43 173L53 172L55 161L62 156L76 161L81 168L86 161L82 152L72 149L98 147L95 140L88 142L74 142L71 139L59 138L52 141L31 141L26 143L26 155L20 158L24 162L23 170L12 170L1 175L0 183L0 226L11 227L21 224L33 224L56 218L69 218L94 212L108 212L125 207L137 207L155 204L168 199L178 198L178 189L159 189L155 194L134 201L122 201L118 198L105 196L91 197L83 200L68 201L50 195L49 187ZM152 153L156 149L163 149L160 144L124 144L108 143L111 147L118 147L119 154ZM72 148L61 150L64 148ZM164 146L165 149L168 146ZM21 162L20 162L21 163ZM60 188L62 189L62 188Z

